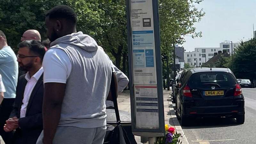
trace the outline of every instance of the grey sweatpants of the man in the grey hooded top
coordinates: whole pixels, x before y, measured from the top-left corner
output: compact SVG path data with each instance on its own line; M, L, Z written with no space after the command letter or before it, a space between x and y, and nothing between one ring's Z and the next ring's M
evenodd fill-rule
M58 126L53 144L103 144L107 127L78 128ZM43 144L44 131L41 132L36 144Z

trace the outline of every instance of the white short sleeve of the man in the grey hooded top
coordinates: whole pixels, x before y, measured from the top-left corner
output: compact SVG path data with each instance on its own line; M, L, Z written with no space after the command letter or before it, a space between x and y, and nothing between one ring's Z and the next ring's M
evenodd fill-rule
M64 83L66 84L71 72L71 61L66 52L59 48L47 50L43 61L44 83Z

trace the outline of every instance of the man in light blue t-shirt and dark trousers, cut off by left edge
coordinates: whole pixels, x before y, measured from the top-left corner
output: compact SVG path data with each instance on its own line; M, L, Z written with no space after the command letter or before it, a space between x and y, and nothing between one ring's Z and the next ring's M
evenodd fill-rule
M4 132L5 120L12 112L12 105L16 97L16 86L18 81L18 62L12 48L7 44L4 32L0 30L0 74L5 86L4 99L0 105L0 135L5 143L10 140L10 133Z

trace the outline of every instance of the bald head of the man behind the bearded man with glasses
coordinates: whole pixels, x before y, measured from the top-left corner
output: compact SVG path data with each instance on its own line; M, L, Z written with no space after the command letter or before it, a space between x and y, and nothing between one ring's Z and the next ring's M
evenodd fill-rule
M41 42L41 35L40 33L35 30L35 29L28 29L25 31L20 39L20 41L25 41L25 40L38 40ZM47 51L47 48L44 47L45 51Z

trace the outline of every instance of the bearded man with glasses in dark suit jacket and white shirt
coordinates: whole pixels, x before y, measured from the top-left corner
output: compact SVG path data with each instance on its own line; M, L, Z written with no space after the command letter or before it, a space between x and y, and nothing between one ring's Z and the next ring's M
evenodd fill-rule
M26 40L18 44L17 61L22 70L16 99L10 118L4 125L5 132L16 130L15 144L35 144L43 130L42 103L44 95L43 67L44 45L40 41Z

